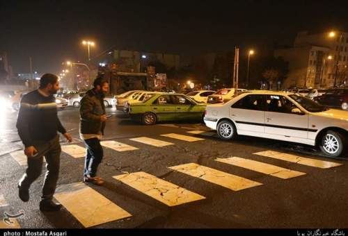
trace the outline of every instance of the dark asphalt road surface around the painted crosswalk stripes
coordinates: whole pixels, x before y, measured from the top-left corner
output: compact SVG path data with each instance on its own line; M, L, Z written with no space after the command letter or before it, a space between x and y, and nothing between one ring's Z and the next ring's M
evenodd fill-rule
M128 144L137 149L119 152L104 148L104 160L98 173L106 180L106 184L102 187L94 185L88 187L132 216L92 226L94 228L347 228L348 226L346 160L325 158L319 151L309 146L275 140L238 137L237 140L225 142L219 140L214 133L209 133L203 124L166 123L143 126L119 115L111 108L108 112L114 115L107 121L104 140ZM10 155L22 149L15 129L16 115L16 112L1 114L0 216L3 215L3 211L15 214L19 210L24 210L24 217L17 219L21 228L84 228L81 219L66 208L54 213L38 210L44 171L31 186L31 200L28 203L23 203L17 196L17 181L24 173L25 166L19 165ZM78 135L78 110L67 108L59 111L59 117L65 128L72 133L73 144L83 147L84 144ZM188 133L193 130L204 130L211 136ZM187 142L161 136L168 133L200 137L203 140ZM131 140L138 137L150 137L172 144L159 147ZM70 145L63 140L63 137L61 144ZM303 165L301 162L255 154L261 151L290 153L301 158L342 165L322 169ZM299 171L303 175L283 179L216 161L216 158L230 157L255 160ZM188 163L223 171L225 174L253 180L262 185L236 191L209 182L204 179L204 174L198 178L168 168ZM58 187L81 182L83 167L84 158L72 158L68 153L62 152ZM205 199L168 206L113 178L136 172L151 174L204 196ZM2 205L1 195L2 202L6 202ZM79 201L88 202L89 196L82 195ZM88 204L94 203L88 202ZM87 213L79 212L79 214ZM101 214L106 213L101 212ZM93 218L93 215L89 217Z

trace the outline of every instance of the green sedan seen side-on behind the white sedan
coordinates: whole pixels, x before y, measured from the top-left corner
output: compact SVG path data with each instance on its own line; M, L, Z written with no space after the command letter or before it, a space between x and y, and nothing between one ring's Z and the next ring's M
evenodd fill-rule
M129 116L145 125L158 121L203 120L205 104L184 94L155 94L142 103L130 105Z

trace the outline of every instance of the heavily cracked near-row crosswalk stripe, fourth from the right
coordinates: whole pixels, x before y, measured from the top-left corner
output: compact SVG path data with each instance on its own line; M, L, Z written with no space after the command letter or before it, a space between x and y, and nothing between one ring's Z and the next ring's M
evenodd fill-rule
M181 205L205 199L204 196L200 196L199 194L145 172L123 174L120 176L113 176L113 178L120 180L122 183L125 183L126 185L143 192L143 194L152 197L152 199L156 199L168 206Z

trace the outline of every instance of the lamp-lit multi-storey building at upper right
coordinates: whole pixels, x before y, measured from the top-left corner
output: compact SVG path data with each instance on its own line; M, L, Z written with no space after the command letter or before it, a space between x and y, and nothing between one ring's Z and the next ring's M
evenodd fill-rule
M284 87L333 87L348 81L348 33L300 32L292 48L277 49L274 56L289 62Z

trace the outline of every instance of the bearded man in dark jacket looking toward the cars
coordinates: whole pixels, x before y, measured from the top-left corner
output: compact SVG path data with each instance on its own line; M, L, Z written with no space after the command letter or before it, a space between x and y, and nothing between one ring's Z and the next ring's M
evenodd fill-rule
M103 185L104 180L97 176L97 167L102 162L103 149L100 145L104 135L105 115L104 96L109 91L109 83L103 78L96 78L93 89L88 90L81 99L80 106L80 137L86 144L84 182Z

